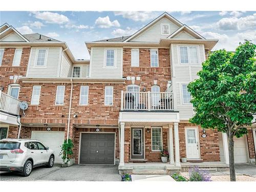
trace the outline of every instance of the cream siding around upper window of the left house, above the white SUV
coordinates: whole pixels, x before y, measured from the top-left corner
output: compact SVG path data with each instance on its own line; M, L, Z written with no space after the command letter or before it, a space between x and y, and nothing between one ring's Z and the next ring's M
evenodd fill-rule
M46 66L35 66L38 49L47 49ZM60 47L31 48L27 76L58 77L61 50Z

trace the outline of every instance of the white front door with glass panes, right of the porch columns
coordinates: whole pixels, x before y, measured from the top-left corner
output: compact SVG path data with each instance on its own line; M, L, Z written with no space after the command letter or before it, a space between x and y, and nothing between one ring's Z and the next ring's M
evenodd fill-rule
M189 127L185 128L186 137L186 155L187 159L199 159L199 141L198 141L198 128Z

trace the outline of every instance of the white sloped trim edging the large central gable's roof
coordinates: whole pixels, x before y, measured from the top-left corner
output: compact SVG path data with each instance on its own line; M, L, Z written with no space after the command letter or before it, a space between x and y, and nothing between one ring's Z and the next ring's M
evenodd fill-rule
M146 29L150 28L152 25L154 25L156 22L158 22L161 18L163 17L167 17L169 20L171 20L173 23L175 23L177 26L181 27L183 24L181 22L179 22L179 20L177 20L176 18L174 18L172 15L170 15L167 12L164 12L163 14L161 14L160 16L158 16L157 18L155 18L152 22L150 22L149 24L147 24L145 27L141 28L139 31L137 31L136 33L134 33L133 35L131 35L129 38L127 38L126 40L124 40L123 42L127 42L130 41L131 39L133 39L134 37L138 36L139 34L141 34L143 31L145 31Z

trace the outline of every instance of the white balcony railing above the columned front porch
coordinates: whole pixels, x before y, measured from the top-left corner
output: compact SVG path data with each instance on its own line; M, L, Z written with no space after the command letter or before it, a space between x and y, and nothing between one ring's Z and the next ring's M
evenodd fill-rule
M169 111L174 109L173 93L170 92L121 92L121 111Z

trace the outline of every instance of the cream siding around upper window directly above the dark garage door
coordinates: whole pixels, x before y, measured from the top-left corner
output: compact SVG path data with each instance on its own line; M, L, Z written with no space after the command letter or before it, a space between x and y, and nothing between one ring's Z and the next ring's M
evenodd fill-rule
M114 49L115 67L105 67L105 50ZM122 48L92 48L90 61L90 77L92 78L122 78Z

